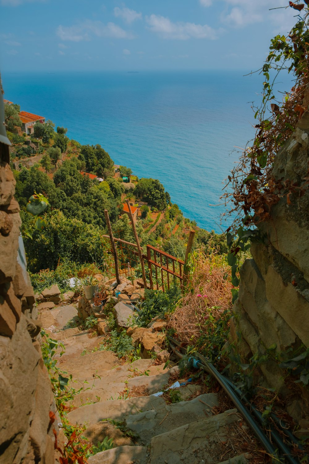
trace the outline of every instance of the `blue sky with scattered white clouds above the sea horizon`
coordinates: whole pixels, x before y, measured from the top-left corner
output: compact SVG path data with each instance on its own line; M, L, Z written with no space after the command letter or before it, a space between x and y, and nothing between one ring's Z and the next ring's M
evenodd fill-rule
M246 69L296 11L286 0L0 0L2 71Z

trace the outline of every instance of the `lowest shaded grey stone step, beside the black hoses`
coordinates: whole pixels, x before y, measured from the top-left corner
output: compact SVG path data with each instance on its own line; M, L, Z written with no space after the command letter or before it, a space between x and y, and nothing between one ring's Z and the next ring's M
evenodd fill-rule
M216 464L217 448L226 440L227 426L241 420L237 409L200 419L151 439L150 464ZM214 452L216 450L216 452Z

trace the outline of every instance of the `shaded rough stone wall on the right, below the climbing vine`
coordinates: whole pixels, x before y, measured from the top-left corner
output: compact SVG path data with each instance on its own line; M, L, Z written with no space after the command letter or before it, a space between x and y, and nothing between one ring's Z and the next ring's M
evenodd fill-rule
M253 258L246 260L240 271L230 339L237 343L244 361L252 354L264 354L265 348L273 343L277 344L277 353L290 346L309 347L308 169L309 111L306 111L277 155L273 168L276 180L289 179L302 186L303 192L291 194L290 202L286 196L282 197L272 207L271 218L258 226L264 243L252 245ZM262 364L260 369L265 384L288 398L288 412L296 420L308 419L308 389L298 383L291 392L284 382L284 372L275 361Z

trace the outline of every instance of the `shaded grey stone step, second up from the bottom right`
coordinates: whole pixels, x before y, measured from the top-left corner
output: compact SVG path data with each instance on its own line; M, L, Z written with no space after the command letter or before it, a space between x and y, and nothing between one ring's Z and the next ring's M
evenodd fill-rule
M126 418L126 425L139 435L140 445L149 445L155 435L210 417L212 407L217 405L217 396L214 393L206 393L191 401L164 404L163 407L160 405L159 408L134 414Z

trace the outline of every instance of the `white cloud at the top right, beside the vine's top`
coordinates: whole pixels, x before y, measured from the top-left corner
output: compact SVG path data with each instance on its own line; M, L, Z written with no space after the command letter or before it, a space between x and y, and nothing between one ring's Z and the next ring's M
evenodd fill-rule
M295 10L269 11L270 8L287 6L286 0L224 0L225 8L221 13L222 22L233 27L244 27L248 24L259 23L265 19L271 20L278 30L287 32L295 23Z

